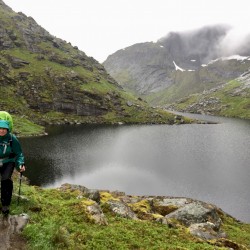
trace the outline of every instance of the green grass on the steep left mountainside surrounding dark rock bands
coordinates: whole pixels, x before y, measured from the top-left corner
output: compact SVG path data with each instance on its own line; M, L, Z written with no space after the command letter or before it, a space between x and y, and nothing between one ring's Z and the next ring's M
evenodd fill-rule
M2 52L6 53L6 52ZM117 112L117 107L114 106L113 100L106 100L109 110L104 116L77 116L73 114L63 114L61 112L49 111L49 112L39 112L29 108L27 100L20 95L16 94L17 86L15 84L8 86L0 86L0 90L4 93L3 98L0 101L0 107L3 110L11 111L15 110L14 116L15 120L15 132L21 135L34 135L44 132L44 127L38 124L41 121L45 123L61 123L67 119L67 121L78 121L80 123L170 123L174 120L173 115L163 112L161 110L153 110L145 102L139 100L136 96L125 92L124 90L118 88L116 85L108 82L105 78L101 78L98 82L95 80L95 72L90 72L83 67L65 67L48 60L38 61L35 58L35 55L20 49L14 49L8 51L8 54L11 56L18 57L22 60L30 62L29 65L24 66L21 69L11 69L7 77L8 79L17 79L20 72L28 72L30 75L26 81L19 81L18 88L28 89L32 85L33 81L37 79L43 79L45 86L40 90L39 97L42 102L52 102L53 93L57 90L54 90L51 79L48 79L46 69L50 68L50 74L54 76L62 76L69 74L70 72L76 72L78 76L83 79L82 82L69 81L67 84L76 85L78 91L82 91L88 94L94 94L105 99L109 93L112 93L112 96L118 101L118 106L122 113ZM2 58L4 61L4 57ZM113 97L111 97L113 98ZM84 98L86 103L94 104L99 106L98 100ZM127 102L131 102L133 105L128 106ZM172 122L173 123L173 122Z

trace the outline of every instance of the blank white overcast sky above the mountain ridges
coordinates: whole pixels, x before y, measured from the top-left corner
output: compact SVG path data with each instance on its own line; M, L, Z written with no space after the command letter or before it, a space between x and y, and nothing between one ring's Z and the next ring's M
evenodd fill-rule
M103 62L135 43L170 31L229 24L249 30L249 0L3 0L58 38Z

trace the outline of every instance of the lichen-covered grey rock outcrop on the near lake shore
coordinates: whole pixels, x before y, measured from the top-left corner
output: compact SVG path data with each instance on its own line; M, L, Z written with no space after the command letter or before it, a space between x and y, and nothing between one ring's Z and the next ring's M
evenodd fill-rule
M109 211L131 220L155 221L170 228L185 227L190 234L202 240L223 239L226 242L227 235L221 229L223 211L212 204L189 198L130 196L123 192L89 190L71 184L64 184L59 190L78 190L79 199L88 197L86 212L97 224L108 224L105 213ZM91 197L94 199L92 202Z

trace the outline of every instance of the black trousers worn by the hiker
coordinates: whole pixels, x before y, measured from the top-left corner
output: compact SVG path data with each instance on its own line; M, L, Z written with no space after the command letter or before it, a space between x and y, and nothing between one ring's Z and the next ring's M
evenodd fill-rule
M11 176L14 171L14 167L14 162L4 163L3 166L0 167L2 206L9 206L11 202L13 191L13 181L11 179Z

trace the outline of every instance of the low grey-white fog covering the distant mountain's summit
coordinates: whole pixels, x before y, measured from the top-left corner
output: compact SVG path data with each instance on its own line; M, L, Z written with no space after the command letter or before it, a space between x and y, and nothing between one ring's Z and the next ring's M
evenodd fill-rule
M250 32L224 24L170 32L158 43L170 53L178 51L184 57L199 56L203 63L230 55L250 56Z

